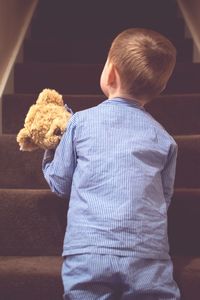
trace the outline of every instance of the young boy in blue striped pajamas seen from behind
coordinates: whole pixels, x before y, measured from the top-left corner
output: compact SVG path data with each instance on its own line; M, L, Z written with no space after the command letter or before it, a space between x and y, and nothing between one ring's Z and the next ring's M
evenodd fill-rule
M176 50L151 30L111 45L100 85L108 100L75 113L53 154L51 190L70 197L64 299L179 299L168 251L167 209L177 145L143 106L164 90Z

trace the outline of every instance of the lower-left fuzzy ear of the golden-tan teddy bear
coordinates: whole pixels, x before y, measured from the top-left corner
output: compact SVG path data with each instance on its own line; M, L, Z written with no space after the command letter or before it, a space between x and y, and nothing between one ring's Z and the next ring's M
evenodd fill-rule
M32 141L31 136L26 128L19 131L17 142L21 151L33 151L38 149L38 146Z

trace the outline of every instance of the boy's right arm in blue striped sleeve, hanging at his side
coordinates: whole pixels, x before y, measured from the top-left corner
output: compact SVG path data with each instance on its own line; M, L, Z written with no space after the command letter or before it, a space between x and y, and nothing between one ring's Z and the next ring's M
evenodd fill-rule
M170 205L171 198L174 192L174 181L176 175L176 160L177 160L178 147L176 144L172 144L168 160L161 173L163 193L166 199L167 208Z

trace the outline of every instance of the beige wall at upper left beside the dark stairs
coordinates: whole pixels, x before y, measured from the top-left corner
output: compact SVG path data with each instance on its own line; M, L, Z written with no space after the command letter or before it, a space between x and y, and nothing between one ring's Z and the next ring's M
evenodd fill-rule
M37 2L38 0L0 0L0 100ZM1 128L0 115L0 132Z

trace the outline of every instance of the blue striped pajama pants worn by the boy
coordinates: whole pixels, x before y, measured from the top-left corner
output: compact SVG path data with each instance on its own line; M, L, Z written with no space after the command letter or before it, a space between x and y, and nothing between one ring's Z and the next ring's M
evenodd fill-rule
M171 260L70 255L62 267L64 300L177 300Z

